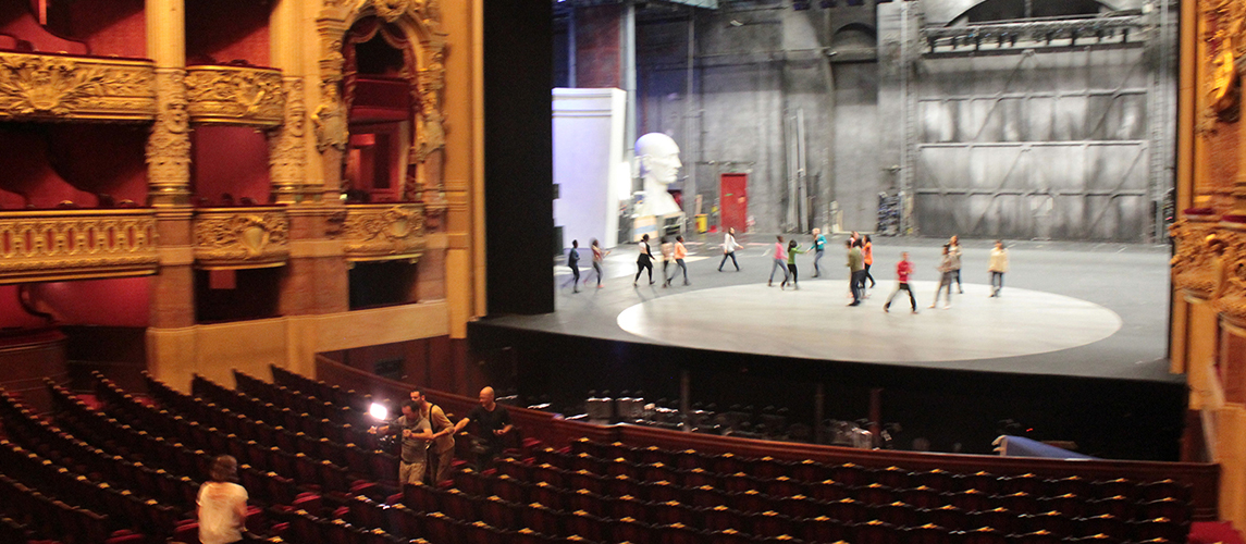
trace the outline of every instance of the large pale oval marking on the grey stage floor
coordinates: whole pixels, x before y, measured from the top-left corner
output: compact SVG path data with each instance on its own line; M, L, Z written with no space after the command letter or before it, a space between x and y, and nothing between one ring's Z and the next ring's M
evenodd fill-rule
M800 290L765 284L701 289L637 304L618 315L623 330L658 342L719 351L863 362L937 362L1045 354L1093 344L1121 326L1116 312L1082 299L991 286L953 288L952 307L930 309L936 284L913 281L908 296L880 281L849 307L847 281L807 281ZM1022 368L1017 368L1022 370ZM1022 370L1023 371L1023 370Z

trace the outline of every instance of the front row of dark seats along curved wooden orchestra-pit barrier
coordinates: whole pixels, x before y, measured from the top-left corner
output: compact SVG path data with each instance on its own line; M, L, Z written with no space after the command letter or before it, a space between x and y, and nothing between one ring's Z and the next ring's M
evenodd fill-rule
M771 457L746 458L733 453L708 454L695 449L669 451L658 447L633 447L623 443L601 443L588 438L573 441L562 449L542 449L535 452L537 464L549 463L569 471L587 469L597 474L611 474L618 471L619 462L649 467L655 478L672 481L668 473L654 471L654 467L667 467L668 471L692 471L755 478L787 477L805 484L835 481L850 487L881 484L893 489L927 487L936 492L964 492L976 489L992 495L1027 493L1033 497L1078 497L1108 498L1123 495L1136 500L1154 500L1172 497L1189 500L1191 489L1171 479L1158 482L1133 482L1124 478L1091 481L1078 476L1065 478L1044 478L1033 473L998 476L988 472L953 473L943 469L910 471L890 466L867 468L855 463L825 464L812 459L789 462ZM660 463L660 467L659 467Z

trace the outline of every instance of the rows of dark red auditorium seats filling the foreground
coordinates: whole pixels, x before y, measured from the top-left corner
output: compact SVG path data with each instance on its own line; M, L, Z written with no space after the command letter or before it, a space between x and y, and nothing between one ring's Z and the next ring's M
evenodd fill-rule
M1191 490L1174 481L867 467L587 437L563 442L563 447L527 441L526 448L508 451L483 471L459 467L452 481L437 485L384 490L369 485L374 482L368 479L373 473L396 474L396 463L381 468L385 463L378 462L386 459L384 452L307 432L314 428L289 432L284 424L253 417L294 411L302 416L313 410L320 412L310 418L340 415L344 411L338 405L321 402L316 395L354 403L364 398L280 372L274 368L274 382L282 375L299 390L239 372L235 380L245 391L197 377L192 383L196 396L188 396L147 376L151 401L95 376L96 395L106 412L50 383L56 421L72 434L9 403L0 421L21 444L0 442L0 462L19 462L10 457L27 452L46 456L41 459L62 462L100 483L123 483L136 498L150 497L186 512L194 478L202 477L213 454L229 452L243 463L242 483L263 508L259 517L270 522L274 534L309 544L1159 544L1184 540L1192 518ZM31 466L22 472L60 482L42 471ZM356 478L360 476L364 478ZM364 485L355 487L359 483ZM57 485L65 490L85 484L65 479ZM11 489L9 485L7 492ZM93 489L76 497L98 505L100 493L106 492ZM130 503L121 500L95 514L91 519L102 515L105 522L88 528L95 534L153 528L156 518L143 518L137 508L126 505ZM12 522L0 519L0 533L31 530L29 513L0 513L10 514ZM176 515L158 523L159 530L176 535L194 530L178 523ZM174 527L169 529L169 524Z

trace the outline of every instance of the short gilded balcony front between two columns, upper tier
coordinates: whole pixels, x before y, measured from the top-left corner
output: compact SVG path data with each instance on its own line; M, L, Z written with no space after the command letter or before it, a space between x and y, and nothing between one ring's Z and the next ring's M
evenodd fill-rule
M187 66L192 122L275 127L285 118L282 71L253 66Z

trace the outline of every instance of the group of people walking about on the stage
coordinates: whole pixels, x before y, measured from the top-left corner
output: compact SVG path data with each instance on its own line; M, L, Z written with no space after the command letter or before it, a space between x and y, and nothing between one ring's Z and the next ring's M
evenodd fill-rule
M801 244L795 238L784 244L782 235L775 237L773 249L768 250L768 254L773 255L773 266L770 268L770 279L766 280L766 286L774 286L775 273L780 273L782 274L782 281L779 283L779 289L786 290L787 285L791 285L792 290L799 290L800 273L796 268L796 255L802 253L814 254L814 278L822 275L821 260L826 254L826 237L822 235L821 229L814 229L811 235L812 240L807 248L801 248ZM860 306L870 296L870 290L876 285L873 275L870 271L870 268L873 265L873 243L870 240L868 234L852 232L844 245L847 254L845 266L849 269L849 291L852 295L852 302L849 306ZM640 276L645 274L648 274L649 285L654 285L657 283L653 279L653 260L655 256L653 248L649 245L648 234L640 237L637 248L637 269L635 276L632 279L632 285L638 286ZM723 271L723 266L728 259L731 259L735 271L740 271L740 263L736 260L735 253L743 248L735 240L735 229L726 229L723 237L723 260L718 264L718 271ZM592 251L593 271L597 274L597 288L601 289L602 263L611 251L603 250L597 239L592 240ZM662 255L662 286L672 286L672 283L680 274L683 275L683 284L692 285L688 281L688 265L684 261L688 256L684 237L675 237L673 240L668 237L662 237L659 240L659 253ZM579 293L579 240L572 240L571 243L571 250L567 253L567 266L572 270L571 283L573 293ZM934 301L930 307L938 307L939 299L943 299L943 307L949 309L952 307L952 284L956 284L957 294L964 294L964 288L961 285L961 242L958 237L953 235L943 244L942 258L939 259L937 270L939 273L939 281L938 288L934 290ZM1003 240L996 240L996 245L991 250L991 261L987 271L991 273L991 296L997 298L1004 286L1004 273L1008 271L1008 249L1004 248ZM901 253L900 261L896 263L896 288L887 296L887 301L882 306L883 311L891 311L892 299L900 291L906 291L913 314L917 312L917 298L913 295L908 281L912 275L913 264L908 260L908 251L903 251ZM584 284L589 279L586 278L583 280ZM868 286L866 286L867 281Z

